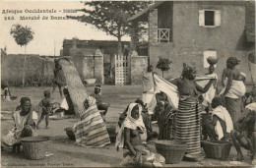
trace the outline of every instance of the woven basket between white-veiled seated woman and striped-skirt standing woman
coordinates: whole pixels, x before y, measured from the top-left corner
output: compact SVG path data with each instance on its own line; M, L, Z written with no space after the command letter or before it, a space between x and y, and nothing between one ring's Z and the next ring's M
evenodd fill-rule
M178 140L157 140L155 146L166 164L179 163L187 150L187 144Z

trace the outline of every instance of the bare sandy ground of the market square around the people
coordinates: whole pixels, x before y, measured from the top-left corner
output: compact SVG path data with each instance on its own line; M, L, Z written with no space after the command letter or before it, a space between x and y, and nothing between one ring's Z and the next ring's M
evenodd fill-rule
M32 98L32 104L36 105L42 98L43 90L49 87L12 87L11 91L15 95L19 95L18 99L13 101L1 101L2 111L12 111L19 104L22 96ZM89 93L94 91L94 87L87 87ZM103 85L103 99L111 105L106 115L107 124L114 125L126 106L133 102L136 98L141 97L142 85ZM56 89L52 97L54 101L60 102L61 97ZM1 134L6 135L8 130L13 127L13 121L10 115L3 114L6 120L1 121ZM122 151L117 152L114 149L114 143L102 148L86 148L78 146L74 141L69 140L64 131L67 127L73 127L78 119L70 118L63 120L50 120L50 129L44 129L44 121L41 122L41 129L37 130L38 135L48 136L50 140L47 142L47 151L53 156L45 157L42 160L28 160L22 154L13 154L11 148L4 148L1 151L1 165L3 167L118 167L122 160ZM158 130L158 126L154 126L154 130ZM154 146L154 142L150 142ZM203 151L203 149L202 149ZM234 147L231 147L229 158L227 161L220 161L205 158L200 162L182 161L179 164L166 164L164 167L226 167L226 166L252 166L246 150L242 150L245 162L233 164L230 159L235 156Z

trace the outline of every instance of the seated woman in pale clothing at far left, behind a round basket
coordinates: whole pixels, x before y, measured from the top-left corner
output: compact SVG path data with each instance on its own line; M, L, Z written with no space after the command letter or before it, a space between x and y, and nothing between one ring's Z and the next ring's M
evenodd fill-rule
M24 137L33 136L33 128L36 126L37 114L32 111L31 99L21 99L21 109L13 114L15 128L2 138L2 145L13 146L13 152L20 152L20 140Z

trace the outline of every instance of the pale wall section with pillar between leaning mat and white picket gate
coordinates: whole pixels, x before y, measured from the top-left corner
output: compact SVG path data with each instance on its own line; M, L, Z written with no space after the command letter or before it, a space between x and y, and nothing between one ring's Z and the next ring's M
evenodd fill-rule
M90 51L83 48L71 48L70 54L82 81L96 78L96 83L104 84L103 55L99 49Z

